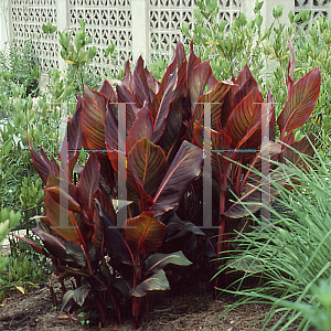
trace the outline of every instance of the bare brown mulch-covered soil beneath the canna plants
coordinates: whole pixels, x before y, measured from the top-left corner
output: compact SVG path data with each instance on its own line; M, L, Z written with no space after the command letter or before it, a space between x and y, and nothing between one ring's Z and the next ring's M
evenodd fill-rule
M55 292L61 302L62 292L58 287L55 288ZM218 320L225 306L234 302L234 298L227 296L213 301L212 295L206 291L204 293L170 291L156 298L153 310L145 314L140 331L256 331L260 330L259 320L267 311L266 306L247 305L236 308ZM0 330L132 330L130 319L126 319L121 325L114 320L108 328L100 328L98 320L94 320L92 316L85 318L90 319L88 325L82 325L78 317L77 321L73 321L64 312L54 309L52 296L46 287L25 295L12 290L10 297L4 299L0 307Z

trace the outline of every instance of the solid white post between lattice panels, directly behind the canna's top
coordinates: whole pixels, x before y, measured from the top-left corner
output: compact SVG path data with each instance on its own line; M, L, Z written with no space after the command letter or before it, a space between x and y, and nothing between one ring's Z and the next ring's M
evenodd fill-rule
M145 61L150 58L150 28L149 28L149 1L131 0L132 15L132 54L134 62L143 55Z

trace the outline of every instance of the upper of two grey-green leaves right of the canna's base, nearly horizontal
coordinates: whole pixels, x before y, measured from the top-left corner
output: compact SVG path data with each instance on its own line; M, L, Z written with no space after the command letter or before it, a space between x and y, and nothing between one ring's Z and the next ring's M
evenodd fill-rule
M182 267L192 265L192 263L185 257L182 250L170 254L156 253L145 260L145 273L158 273L169 264Z

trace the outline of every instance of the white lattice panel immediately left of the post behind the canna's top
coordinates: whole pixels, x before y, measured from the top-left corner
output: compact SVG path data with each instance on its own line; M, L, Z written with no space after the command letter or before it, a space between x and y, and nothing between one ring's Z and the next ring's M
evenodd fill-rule
M70 0L70 24L79 28L79 20L86 22L86 33L93 36L97 55L92 64L94 73L106 75L124 68L125 62L132 60L132 26L130 0ZM109 66L104 50L115 44L119 63Z

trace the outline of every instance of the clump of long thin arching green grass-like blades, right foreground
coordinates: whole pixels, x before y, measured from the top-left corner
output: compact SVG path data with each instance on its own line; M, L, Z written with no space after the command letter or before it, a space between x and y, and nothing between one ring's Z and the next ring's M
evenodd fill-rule
M278 206L270 209L271 223L238 234L233 243L237 248L226 265L245 273L234 284L237 289L231 291L242 299L231 309L248 302L270 305L263 330L309 330L311 324L320 330L330 328L330 299L317 287L323 279L331 280L331 159L330 153L314 151L314 159L301 154L307 171L281 166L290 180L286 188L279 186ZM260 278L260 287L242 289L244 279L252 276ZM270 328L276 314L277 322Z

